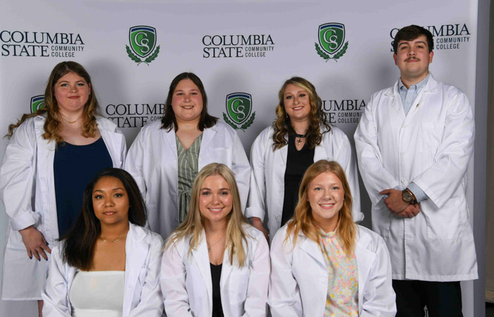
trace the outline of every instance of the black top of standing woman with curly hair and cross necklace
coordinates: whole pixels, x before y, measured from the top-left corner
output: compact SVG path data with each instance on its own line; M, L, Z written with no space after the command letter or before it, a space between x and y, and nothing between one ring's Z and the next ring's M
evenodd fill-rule
M288 136L287 169L284 171L284 197L282 226L294 216L295 206L299 202L299 187L303 174L314 163L314 149L309 149L307 143L297 151L295 135Z

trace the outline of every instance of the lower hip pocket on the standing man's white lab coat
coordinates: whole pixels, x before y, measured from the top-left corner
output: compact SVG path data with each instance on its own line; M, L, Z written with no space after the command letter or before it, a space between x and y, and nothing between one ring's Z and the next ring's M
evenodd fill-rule
M423 203L424 204L424 203ZM460 199L449 199L441 209L423 210L427 222L428 239L461 239L463 237L464 213L466 204L462 206Z

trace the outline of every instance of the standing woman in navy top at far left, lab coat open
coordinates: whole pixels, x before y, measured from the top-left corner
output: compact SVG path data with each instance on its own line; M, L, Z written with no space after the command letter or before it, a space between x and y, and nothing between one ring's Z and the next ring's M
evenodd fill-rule
M49 246L76 220L85 185L103 168L123 166L125 138L97 115L98 107L88 72L65 61L52 70L44 107L8 127L0 168L0 197L10 218L4 300L40 301ZM41 307L40 301L40 315Z

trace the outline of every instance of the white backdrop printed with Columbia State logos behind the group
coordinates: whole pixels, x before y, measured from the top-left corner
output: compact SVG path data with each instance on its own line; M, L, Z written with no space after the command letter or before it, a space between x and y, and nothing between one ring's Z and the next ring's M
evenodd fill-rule
M359 2L0 0L0 135L30 112L32 98L44 93L56 63L73 60L92 76L102 114L119 123L128 146L143 123L162 116L169 83L183 71L203 80L209 112L221 120L227 95L251 95L251 116L240 124L251 125L238 130L247 152L275 118L279 87L294 75L313 82L332 123L353 144L370 94L399 77L392 36L410 24L428 27L435 36L430 70L436 79L459 87L475 105L476 0L417 0L412 7L392 0ZM327 23L344 25L339 50L322 54L338 59L325 60L315 48L323 46L318 27ZM147 42L138 36L140 48L133 51L129 30L136 26L154 28L155 41L150 33ZM149 55L140 57L146 45ZM134 59L147 63L136 63L126 46ZM0 159L6 143L0 140ZM474 211L472 170L468 198ZM364 225L369 226L370 202L363 186L361 196ZM0 209L4 232L7 218L3 206ZM462 286L464 315L473 316L471 282ZM0 302L0 315L26 316L22 309L35 306L18 307Z

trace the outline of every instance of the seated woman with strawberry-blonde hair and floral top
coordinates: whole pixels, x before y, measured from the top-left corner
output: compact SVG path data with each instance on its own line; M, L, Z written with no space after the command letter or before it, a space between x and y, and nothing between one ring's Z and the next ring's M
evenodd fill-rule
M272 316L394 316L390 254L354 223L351 204L337 162L308 168L294 217L271 245Z

